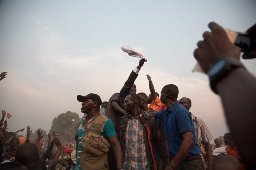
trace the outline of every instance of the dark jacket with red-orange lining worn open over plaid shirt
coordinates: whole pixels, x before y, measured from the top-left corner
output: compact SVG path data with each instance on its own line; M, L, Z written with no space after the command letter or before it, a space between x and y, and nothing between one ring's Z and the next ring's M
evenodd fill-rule
M150 167L151 169L157 169L158 155L156 153L156 147L162 161L167 162L168 155L166 151L166 145L164 143L164 138L162 136L162 133L160 132L157 126L156 119L152 115L142 110L141 112L142 112L142 116L140 117L140 122L143 124L143 127L144 127L143 131L144 131L145 142L146 142L148 153L149 153ZM121 145L123 158L125 158L125 131L126 131L127 123L129 120L129 115L130 114L127 114L120 118L120 124L117 131L117 137Z

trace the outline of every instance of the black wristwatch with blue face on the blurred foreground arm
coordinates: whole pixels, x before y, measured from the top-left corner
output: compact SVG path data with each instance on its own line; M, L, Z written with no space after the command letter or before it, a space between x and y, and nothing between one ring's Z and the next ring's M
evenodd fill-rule
M234 58L222 58L215 63L207 73L210 79L210 87L212 91L218 94L216 89L217 83L237 67L244 68L244 65Z

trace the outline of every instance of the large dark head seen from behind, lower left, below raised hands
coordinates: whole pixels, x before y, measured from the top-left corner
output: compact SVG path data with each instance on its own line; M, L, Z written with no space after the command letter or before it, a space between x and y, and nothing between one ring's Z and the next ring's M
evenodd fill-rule
M37 166L39 161L39 153L36 145L32 143L22 144L15 153L15 160L25 166Z

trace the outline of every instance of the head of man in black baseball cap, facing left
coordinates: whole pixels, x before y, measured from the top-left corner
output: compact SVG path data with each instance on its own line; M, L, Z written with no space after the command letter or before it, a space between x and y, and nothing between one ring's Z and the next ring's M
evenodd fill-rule
M82 102L82 113L88 113L92 109L99 110L102 104L100 96L93 93L87 94L86 96L77 95L77 100Z

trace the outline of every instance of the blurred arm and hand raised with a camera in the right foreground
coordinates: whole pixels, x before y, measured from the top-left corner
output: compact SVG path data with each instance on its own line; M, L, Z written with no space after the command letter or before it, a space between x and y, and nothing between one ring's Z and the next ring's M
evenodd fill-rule
M212 32L203 34L204 41L197 43L194 56L205 73L224 57L238 62L241 50L228 40L225 30L211 22ZM247 30L256 35L256 25ZM255 58L256 50L244 53L243 58ZM232 68L232 67L230 67ZM216 91L221 97L228 127L234 135L237 148L248 168L255 168L256 145L251 140L256 135L256 78L242 67L235 67L216 83ZM234 105L234 103L236 103ZM242 114L243 113L243 114ZM237 126L239 124L239 126ZM243 127L243 128L240 128Z

